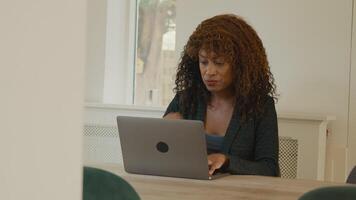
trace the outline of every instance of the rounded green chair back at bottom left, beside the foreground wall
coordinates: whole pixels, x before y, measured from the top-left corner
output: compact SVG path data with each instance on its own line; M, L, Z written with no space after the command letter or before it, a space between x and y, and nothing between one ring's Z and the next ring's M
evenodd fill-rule
M140 200L124 179L110 172L84 167L83 200Z

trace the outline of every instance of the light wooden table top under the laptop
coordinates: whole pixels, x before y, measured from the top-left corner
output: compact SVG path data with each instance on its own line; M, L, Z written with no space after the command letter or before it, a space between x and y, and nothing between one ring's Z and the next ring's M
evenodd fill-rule
M343 185L315 180L231 175L216 180L128 174L118 165L90 165L117 174L128 181L143 200L296 200L311 189Z

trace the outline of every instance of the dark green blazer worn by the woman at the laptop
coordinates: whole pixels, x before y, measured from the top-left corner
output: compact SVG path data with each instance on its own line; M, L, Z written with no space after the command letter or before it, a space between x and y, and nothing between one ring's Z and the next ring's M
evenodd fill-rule
M204 103L198 102L197 112L183 117L204 122L206 108ZM180 112L178 95L164 115L171 112ZM277 114L273 98L267 98L262 116L250 117L244 123L238 116L237 105L224 136L222 153L229 157L225 170L231 174L280 176Z

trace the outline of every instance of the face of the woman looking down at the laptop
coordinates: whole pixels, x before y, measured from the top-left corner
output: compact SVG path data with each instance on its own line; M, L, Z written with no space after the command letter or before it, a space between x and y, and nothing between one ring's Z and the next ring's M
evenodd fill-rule
M207 54L206 51L199 52L200 74L206 88L212 93L231 91L233 80L232 66L223 58Z

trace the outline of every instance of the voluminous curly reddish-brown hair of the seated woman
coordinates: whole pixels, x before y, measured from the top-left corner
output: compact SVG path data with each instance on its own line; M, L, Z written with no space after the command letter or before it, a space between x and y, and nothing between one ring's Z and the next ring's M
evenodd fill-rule
M256 31L239 16L217 15L198 25L181 54L174 91L179 95L183 115L194 114L198 100L210 101L211 94L200 75L201 50L223 58L232 66L235 105L242 119L253 113L261 114L266 97L277 100L274 78Z

